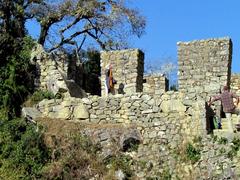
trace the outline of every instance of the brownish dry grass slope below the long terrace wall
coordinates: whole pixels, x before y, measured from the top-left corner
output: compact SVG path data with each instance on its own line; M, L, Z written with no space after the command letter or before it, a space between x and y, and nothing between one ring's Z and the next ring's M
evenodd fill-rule
M99 158L97 146L81 136L90 128L131 128L122 124L89 124L77 121L42 118L38 121L45 129L45 143L52 149L52 162L44 168L44 178L54 179L115 179L115 170L106 168ZM116 147L115 147L116 148Z

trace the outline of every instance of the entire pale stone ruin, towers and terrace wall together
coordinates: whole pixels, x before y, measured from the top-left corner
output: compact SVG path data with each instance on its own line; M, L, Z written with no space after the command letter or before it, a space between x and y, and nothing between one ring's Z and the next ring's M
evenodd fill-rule
M175 160L169 157L169 154L174 152L179 144L196 136L207 135L213 115L212 109L206 105L210 96L219 94L226 84L231 85L237 93L240 92L238 76L234 75L230 82L230 38L178 43L178 92L168 91L168 80L164 75L143 75L144 54L138 49L101 52L101 96L84 94L81 88L77 91L73 88L76 93L81 93L81 98L71 94L71 89L67 88L67 63L53 61L46 53L37 53L33 60L40 71L38 87L55 93L66 93L62 99L40 102L35 108L38 116L99 125L133 125L139 132L138 137L141 135L139 142L142 142L134 158L152 163L153 171L145 172L148 174L158 172L166 166L172 167L172 173L180 173L182 178L188 177L189 171L184 169L182 173L181 167L174 164ZM118 84L115 95L106 96L104 83L105 68L108 64L113 66L113 76ZM75 83L75 78L72 77L71 82ZM53 84L54 88L51 87ZM119 91L120 84L124 85L123 91ZM215 108L218 114L221 114L220 103L216 103ZM27 108L24 112L31 114ZM89 130L87 135L97 139L103 146L114 136L112 130L110 132L105 128L98 133L96 135L96 132ZM210 142L206 142L208 143ZM200 177L208 174L209 165L216 164L219 159L210 157L209 153L203 156L208 161L201 162L199 169L194 166L199 170ZM221 162L217 164L220 166L225 163L224 167L228 167L230 162L227 158L221 158ZM165 165L159 162L167 163ZM223 171L225 170L227 171L227 168ZM215 173L215 169L211 169L210 173L213 172ZM139 173L138 177L145 176L141 175L142 172Z

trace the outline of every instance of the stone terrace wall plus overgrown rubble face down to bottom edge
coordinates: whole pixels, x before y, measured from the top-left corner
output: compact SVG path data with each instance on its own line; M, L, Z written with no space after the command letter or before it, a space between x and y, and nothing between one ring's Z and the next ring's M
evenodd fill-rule
M69 97L44 100L37 108L46 117L91 125L93 128L79 133L86 133L100 142L106 156L111 155L111 143L121 143L124 137L136 136L141 140L140 145L134 153L128 154L139 163L135 164L134 171L139 178L159 177L168 169L176 179L221 179L223 173L224 177L229 177L237 169L231 169L232 162L220 151L226 147L205 136L205 102L186 99L181 92L168 91L152 96L135 93L83 99ZM187 143L200 136L200 147L204 148L198 164L180 160L186 155ZM228 151L229 148L224 149Z

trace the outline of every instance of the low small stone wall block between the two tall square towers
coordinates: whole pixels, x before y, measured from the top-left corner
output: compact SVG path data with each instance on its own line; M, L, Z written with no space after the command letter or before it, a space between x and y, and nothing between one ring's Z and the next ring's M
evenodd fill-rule
M168 79L164 75L145 75L143 92L146 94L162 94L168 91Z

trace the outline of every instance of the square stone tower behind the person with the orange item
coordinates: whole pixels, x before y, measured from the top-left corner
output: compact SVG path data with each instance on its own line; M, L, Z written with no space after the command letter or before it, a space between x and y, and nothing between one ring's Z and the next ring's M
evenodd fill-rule
M102 96L106 95L106 67L109 65L112 66L113 77L117 81L115 94L118 94L118 92L126 94L142 92L144 71L143 52L138 49L101 52Z

